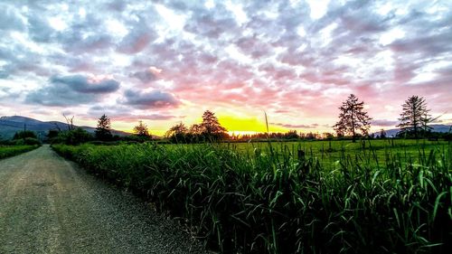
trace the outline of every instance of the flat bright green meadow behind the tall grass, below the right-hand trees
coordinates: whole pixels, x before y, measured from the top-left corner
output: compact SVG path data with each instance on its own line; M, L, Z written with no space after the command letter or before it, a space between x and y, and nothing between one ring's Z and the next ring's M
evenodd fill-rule
M371 165L377 166L385 162L387 156L395 156L402 163L420 163L425 153L434 150L436 153L447 154L449 142L428 141L413 139L385 139L385 140L363 140L353 143L344 141L300 141L280 143L236 143L224 145L242 153L252 155L253 153L271 154L270 147L278 155L295 155L302 150L306 156L316 158L319 163L328 168L338 168L338 163L344 161L345 157L369 158ZM421 155L419 157L419 155Z

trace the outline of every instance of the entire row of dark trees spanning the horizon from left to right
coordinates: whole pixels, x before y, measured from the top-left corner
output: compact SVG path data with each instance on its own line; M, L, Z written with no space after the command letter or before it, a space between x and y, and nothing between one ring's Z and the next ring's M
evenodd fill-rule
M438 118L433 118L427 108L424 98L419 96L410 96L401 105L400 128L396 137L402 138L426 138L433 136L432 127L429 124ZM218 141L249 141L249 140L297 140L297 139L344 139L350 138L353 142L360 137L386 137L386 132L381 129L377 135L369 134L372 118L369 117L364 107L364 102L360 101L355 95L351 94L339 107L340 114L338 121L333 126L333 133L297 133L296 130L290 130L286 133L257 133L253 135L229 135L227 129L222 127L215 114L206 110L202 114L202 122L193 124L190 127L180 122L165 133L165 138L171 143L199 143L199 142L218 142ZM110 142L110 141L130 141L146 142L153 139L149 128L143 121L139 121L133 128L134 135L117 136L112 135L111 120L105 114L98 119L98 124L94 134L88 131L74 127L73 117L66 119L68 130L61 130L60 127L49 130L47 138L53 143L65 143L78 145L89 141ZM438 136L438 134L437 134ZM441 137L450 138L451 134L443 134ZM33 143L36 136L31 131L22 131L14 135L14 140L19 143Z

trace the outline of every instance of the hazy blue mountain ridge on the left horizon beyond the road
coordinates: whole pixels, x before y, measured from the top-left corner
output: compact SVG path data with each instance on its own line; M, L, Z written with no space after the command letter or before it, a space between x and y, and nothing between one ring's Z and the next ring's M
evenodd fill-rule
M77 126L75 126L77 127ZM94 133L96 127L81 127L89 133ZM66 123L58 121L42 122L33 118L26 118L22 116L1 117L0 118L0 139L9 139L14 136L17 131L32 130L37 133L38 137L43 137L50 129L68 129ZM129 136L130 133L112 130L111 134L118 136Z

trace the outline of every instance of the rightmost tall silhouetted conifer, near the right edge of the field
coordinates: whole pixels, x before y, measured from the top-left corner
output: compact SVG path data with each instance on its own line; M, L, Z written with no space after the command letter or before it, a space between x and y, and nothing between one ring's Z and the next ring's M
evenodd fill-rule
M405 103L401 106L402 112L400 113L400 127L399 135L413 135L414 138L419 137L419 130L427 132L431 127L428 127L428 123L432 120L429 117L427 105L425 99L418 96L410 96L405 100Z

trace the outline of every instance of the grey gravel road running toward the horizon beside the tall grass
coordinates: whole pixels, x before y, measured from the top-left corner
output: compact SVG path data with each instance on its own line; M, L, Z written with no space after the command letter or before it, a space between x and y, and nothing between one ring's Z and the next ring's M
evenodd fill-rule
M0 161L0 253L203 253L180 228L50 146Z

